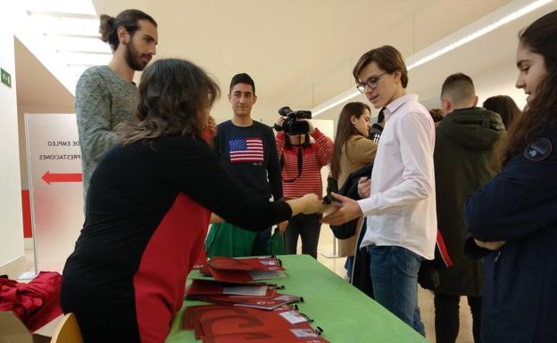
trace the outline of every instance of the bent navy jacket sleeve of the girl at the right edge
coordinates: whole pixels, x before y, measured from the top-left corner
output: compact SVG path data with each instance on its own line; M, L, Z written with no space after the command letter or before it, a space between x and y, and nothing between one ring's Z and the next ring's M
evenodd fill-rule
M521 151L464 207L472 236L511 241L557 223L557 153L531 161Z

